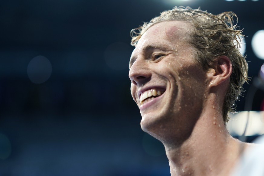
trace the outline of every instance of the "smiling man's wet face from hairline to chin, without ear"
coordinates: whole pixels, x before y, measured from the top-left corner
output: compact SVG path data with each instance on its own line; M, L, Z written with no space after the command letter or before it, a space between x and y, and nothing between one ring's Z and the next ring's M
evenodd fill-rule
M190 28L183 21L155 24L132 52L131 94L144 131L191 127L202 111L206 73L194 63L195 49L187 34Z

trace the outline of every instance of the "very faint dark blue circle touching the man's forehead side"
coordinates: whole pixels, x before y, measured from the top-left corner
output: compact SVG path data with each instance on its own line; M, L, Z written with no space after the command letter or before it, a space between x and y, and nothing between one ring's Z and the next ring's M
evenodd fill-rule
M104 53L104 58L108 67L114 70L124 70L128 68L132 47L124 42L110 44Z

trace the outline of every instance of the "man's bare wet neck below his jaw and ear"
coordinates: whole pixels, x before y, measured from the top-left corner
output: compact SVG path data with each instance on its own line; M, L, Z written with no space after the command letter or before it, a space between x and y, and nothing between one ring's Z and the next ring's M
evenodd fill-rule
M208 112L208 111L207 111ZM215 111L216 112L216 111ZM165 143L171 175L228 175L243 152L245 143L233 139L217 117L204 114L188 139Z

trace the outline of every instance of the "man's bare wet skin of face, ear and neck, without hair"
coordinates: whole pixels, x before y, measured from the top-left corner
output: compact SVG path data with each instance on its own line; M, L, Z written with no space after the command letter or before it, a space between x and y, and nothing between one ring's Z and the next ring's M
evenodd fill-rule
M131 93L141 128L165 146L171 175L226 176L249 146L233 139L223 122L232 65L226 56L217 57L207 72L197 65L190 28L167 21L142 35L130 59Z

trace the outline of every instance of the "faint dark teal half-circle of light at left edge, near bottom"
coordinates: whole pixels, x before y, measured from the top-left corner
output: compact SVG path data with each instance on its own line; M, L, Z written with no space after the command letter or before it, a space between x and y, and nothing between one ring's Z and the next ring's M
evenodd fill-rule
M5 160L11 154L11 143L8 137L0 133L0 159Z

